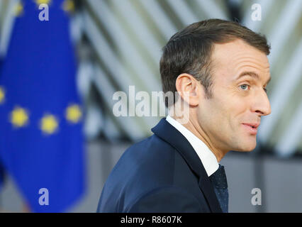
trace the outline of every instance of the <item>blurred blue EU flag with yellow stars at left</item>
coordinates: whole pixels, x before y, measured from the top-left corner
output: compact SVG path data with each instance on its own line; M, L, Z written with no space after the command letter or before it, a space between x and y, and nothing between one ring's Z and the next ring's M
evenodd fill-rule
M20 1L0 67L0 162L34 212L68 211L84 193L71 6Z

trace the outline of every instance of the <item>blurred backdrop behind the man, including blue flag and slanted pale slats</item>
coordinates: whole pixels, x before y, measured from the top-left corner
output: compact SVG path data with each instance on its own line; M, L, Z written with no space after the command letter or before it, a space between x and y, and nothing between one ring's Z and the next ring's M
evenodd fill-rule
M118 158L162 118L115 116L113 94L159 92L167 40L222 18L272 46L257 148L221 161L229 211L302 212L301 12L301 0L0 0L1 211L95 212Z

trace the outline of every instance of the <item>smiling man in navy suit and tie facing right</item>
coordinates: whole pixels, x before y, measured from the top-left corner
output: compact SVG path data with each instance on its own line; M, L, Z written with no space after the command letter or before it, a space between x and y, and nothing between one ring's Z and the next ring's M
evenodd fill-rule
M173 35L160 73L163 92L179 98L154 135L122 155L97 211L228 212L219 162L229 150L255 149L260 119L271 112L267 55L266 38L235 22L200 21Z

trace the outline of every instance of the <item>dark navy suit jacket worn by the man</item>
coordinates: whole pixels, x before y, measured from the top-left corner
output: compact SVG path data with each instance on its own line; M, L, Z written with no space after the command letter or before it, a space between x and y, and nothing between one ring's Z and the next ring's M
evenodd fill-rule
M188 140L162 118L154 135L125 150L109 175L97 212L222 212Z

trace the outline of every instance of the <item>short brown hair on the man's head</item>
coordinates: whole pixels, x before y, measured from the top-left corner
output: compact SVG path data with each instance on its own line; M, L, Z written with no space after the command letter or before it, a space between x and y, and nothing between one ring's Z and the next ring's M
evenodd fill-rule
M163 92L170 91L175 94L177 77L179 74L188 73L201 82L207 97L211 98L213 44L228 43L237 38L269 55L270 46L267 38L235 21L220 19L199 21L174 34L162 48L160 74ZM168 106L167 100L165 103Z

